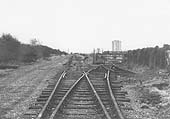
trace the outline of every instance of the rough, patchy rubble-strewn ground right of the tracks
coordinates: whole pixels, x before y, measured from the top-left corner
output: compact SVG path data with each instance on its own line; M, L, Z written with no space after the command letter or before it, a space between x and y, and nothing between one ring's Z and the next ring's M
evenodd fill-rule
M159 70L138 70L136 77L121 77L131 99L125 105L133 109L124 110L124 114L128 119L170 119L170 76Z

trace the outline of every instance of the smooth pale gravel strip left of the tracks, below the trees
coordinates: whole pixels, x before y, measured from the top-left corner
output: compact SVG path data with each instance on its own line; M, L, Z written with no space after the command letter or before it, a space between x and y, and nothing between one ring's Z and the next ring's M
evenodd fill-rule
M54 56L16 70L0 71L0 119L20 119L68 56Z

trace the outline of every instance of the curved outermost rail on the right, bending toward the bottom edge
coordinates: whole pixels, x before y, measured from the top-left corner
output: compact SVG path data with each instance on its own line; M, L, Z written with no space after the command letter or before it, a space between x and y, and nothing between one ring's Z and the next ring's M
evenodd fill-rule
M121 110L120 110L120 108L119 108L119 106L118 106L118 104L117 104L116 98L115 98L115 96L113 95L113 91L112 91L112 89L111 89L111 84L110 84L109 75L110 75L110 70L108 70L108 72L107 72L107 85L108 85L108 88L109 88L109 93L110 93L112 102L114 103L114 106L115 106L115 108L116 108L116 110L117 110L117 112L118 112L118 115L119 115L120 119L125 119L124 116L123 116L123 114L122 114L122 112L121 112Z

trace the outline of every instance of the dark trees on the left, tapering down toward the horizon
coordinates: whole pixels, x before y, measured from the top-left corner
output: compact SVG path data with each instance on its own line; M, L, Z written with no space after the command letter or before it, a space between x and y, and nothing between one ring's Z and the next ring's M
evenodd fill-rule
M33 62L39 58L49 57L51 54L66 54L60 50L36 44L23 44L11 34L3 34L0 37L0 63L2 62Z

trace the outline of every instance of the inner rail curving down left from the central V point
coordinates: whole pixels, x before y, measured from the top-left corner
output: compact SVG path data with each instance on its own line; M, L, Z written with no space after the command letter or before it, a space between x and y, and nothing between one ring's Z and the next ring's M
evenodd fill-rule
M67 91L67 93L64 95L64 97L62 98L62 100L59 102L59 104L57 105L57 107L55 108L55 110L53 111L53 113L50 116L50 119L53 119L54 116L56 115L56 113L58 112L58 110L60 109L61 105L63 104L64 100L67 98L67 96L70 94L70 92L73 90L73 88L81 81L81 79L83 79L84 77L84 73L83 75L70 87L70 89Z

